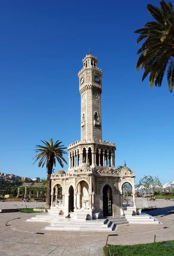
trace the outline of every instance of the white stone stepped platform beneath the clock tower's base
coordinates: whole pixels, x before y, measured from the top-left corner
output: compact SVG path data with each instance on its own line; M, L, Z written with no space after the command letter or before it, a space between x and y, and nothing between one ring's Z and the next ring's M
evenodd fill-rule
M156 218L143 213L142 215L115 216L98 220L76 219L73 214L71 218L64 215L51 215L45 213L27 219L28 222L48 222L43 230L69 230L69 231L115 231L116 226L124 224L159 224Z

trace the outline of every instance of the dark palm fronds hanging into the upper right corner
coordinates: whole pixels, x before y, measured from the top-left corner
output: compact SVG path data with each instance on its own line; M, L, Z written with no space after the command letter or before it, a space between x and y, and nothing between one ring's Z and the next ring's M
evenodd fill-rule
M150 21L138 29L137 44L145 39L136 69L144 69L142 81L149 75L149 84L152 88L162 85L162 79L167 72L170 92L174 85L174 8L171 3L160 2L160 8L148 4L147 9L156 21Z

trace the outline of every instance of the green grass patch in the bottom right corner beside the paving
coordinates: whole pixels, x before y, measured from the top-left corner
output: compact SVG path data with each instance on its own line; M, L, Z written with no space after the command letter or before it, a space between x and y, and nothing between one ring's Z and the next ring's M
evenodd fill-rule
M136 236L135 236L136 239ZM164 244L172 244L171 247L165 247ZM110 253L113 256L173 256L174 240L163 241L152 244L136 245L109 245ZM104 246L104 255L107 256L107 247Z

